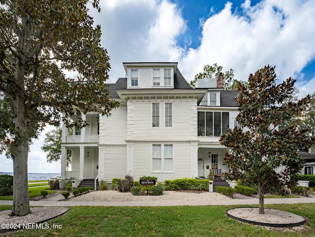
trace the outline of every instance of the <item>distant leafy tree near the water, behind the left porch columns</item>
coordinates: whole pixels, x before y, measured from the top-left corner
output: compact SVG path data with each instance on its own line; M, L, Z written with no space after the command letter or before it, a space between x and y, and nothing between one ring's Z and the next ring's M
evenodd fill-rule
M41 149L47 153L48 163L61 159L62 128L51 130L45 134L45 140ZM71 163L71 150L67 149L67 166Z

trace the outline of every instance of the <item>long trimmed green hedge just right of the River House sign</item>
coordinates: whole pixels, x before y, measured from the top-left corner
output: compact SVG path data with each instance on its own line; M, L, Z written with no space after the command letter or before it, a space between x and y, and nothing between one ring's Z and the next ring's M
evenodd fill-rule
M165 190L209 190L209 181L188 178L165 180Z

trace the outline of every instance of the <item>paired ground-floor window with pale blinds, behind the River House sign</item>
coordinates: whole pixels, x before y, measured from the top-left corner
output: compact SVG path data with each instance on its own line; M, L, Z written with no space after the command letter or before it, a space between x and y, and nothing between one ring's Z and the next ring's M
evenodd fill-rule
M173 145L152 146L152 171L173 171Z

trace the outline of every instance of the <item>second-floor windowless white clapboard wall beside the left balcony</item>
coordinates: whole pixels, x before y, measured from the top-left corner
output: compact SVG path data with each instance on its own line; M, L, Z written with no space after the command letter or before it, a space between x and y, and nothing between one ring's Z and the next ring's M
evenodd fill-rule
M99 118L100 144L126 144L127 110L121 105L111 111L111 116Z

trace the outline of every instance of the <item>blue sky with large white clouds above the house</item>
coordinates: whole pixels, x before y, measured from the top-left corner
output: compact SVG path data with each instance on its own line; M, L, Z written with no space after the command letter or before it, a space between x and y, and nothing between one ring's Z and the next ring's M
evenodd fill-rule
M126 73L123 62L178 62L189 82L218 63L247 80L265 65L279 81L296 79L299 98L315 93L315 0L100 0L90 15L110 56L109 83ZM48 132L47 128L45 132ZM43 132L29 153L29 172L60 173L47 163ZM0 155L0 171L12 160Z

